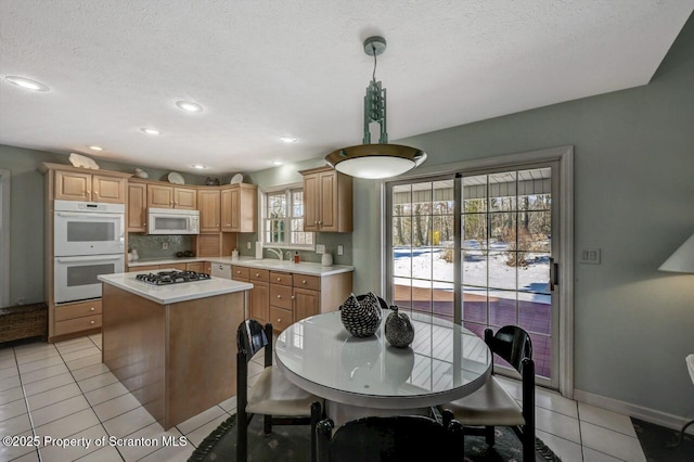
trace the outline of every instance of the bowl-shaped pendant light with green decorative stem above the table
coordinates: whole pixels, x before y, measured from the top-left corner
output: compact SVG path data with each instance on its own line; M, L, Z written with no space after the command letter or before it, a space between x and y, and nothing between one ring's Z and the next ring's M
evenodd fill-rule
M335 170L351 177L381 179L410 171L426 161L426 153L410 146L388 144L386 130L386 89L376 81L376 56L386 50L383 37L370 37L364 41L364 53L373 56L373 76L364 97L363 144L343 147L325 156ZM381 126L377 144L371 144L370 124Z

